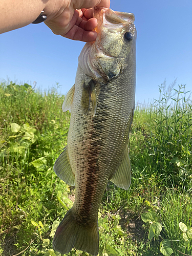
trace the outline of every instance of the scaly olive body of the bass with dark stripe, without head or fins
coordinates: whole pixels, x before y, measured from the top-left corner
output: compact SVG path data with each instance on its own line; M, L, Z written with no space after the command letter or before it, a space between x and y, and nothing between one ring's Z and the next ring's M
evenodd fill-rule
M97 220L106 183L117 170L128 144L135 88L128 88L124 80L135 76L126 73L127 76L122 74L116 80L96 86L96 115L93 117L90 108L84 117L78 95L82 94L83 76L86 74L78 67L80 75L75 83L77 93L75 91L72 105L68 153L72 169L76 170L76 196L72 210L88 222Z

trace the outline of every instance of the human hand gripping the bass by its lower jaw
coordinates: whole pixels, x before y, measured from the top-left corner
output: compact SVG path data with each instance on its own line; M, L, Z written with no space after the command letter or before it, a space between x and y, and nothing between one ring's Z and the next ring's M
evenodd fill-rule
M55 9L58 11L48 15L45 24L54 34L73 40L95 41L97 32L93 29L97 26L97 19L93 17L92 11L95 6L109 8L110 0L57 1ZM46 8L44 11L49 14L49 7L48 10Z

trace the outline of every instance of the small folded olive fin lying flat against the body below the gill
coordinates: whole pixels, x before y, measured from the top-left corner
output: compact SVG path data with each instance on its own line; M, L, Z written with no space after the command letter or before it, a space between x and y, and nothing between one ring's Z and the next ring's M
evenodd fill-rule
M84 116L86 116L90 109L90 101L92 101L93 116L97 110L97 95L95 91L95 81L91 80L88 84L83 83L81 109Z

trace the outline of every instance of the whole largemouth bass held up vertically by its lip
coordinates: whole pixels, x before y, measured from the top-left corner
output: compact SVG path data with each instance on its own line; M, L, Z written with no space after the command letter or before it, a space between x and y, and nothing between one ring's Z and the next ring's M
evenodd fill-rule
M54 172L75 185L75 201L57 227L53 248L97 255L98 210L108 181L131 184L129 133L135 108L136 28L133 13L94 8L98 33L80 55L75 84L65 97L70 111L67 146Z

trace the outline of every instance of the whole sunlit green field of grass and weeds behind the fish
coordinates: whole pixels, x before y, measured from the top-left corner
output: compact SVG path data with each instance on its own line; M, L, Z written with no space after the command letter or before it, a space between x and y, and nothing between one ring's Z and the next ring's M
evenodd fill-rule
M28 84L0 84L0 255L61 255L52 250L52 238L75 193L53 172L70 123L70 114L61 110L63 98L56 88L44 93ZM192 254L192 241L179 228L180 222L192 226L191 117L185 86L175 83L162 84L158 100L136 108L132 185L126 191L108 183L99 210L99 256L163 255L164 239L172 255ZM148 211L163 226L152 241L141 220Z

